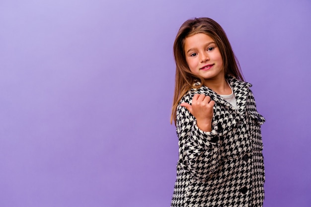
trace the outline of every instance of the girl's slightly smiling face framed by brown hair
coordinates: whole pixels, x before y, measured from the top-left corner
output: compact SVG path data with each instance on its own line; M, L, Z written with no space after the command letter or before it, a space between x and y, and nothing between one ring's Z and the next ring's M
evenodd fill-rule
M185 38L186 62L191 72L204 79L225 78L222 55L209 35L197 33Z

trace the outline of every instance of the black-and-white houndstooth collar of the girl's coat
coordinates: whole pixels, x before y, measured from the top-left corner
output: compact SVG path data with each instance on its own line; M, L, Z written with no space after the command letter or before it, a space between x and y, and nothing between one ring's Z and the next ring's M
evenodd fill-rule
M247 96L249 92L249 87L252 85L250 83L241 81L233 77L232 75L227 75L226 80L231 85L233 89L233 93L236 99L236 105L238 108L238 111L241 113L244 113L246 110L246 103L247 103ZM200 85L200 82L196 82L194 85ZM225 99L223 99L220 95L215 93L210 88L202 85L200 88L193 88L193 91L196 91L195 93L203 93L205 95L208 95L211 97L212 100L214 100L216 103L219 103L221 105L225 105L233 110L233 106L229 104Z

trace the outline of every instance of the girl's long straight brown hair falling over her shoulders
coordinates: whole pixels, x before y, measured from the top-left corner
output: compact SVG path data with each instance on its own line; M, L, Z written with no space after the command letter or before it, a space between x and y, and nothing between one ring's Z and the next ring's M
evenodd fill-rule
M185 38L197 33L204 33L214 39L223 58L225 75L230 74L237 79L244 80L238 61L235 58L224 29L216 21L207 17L194 18L185 21L178 30L173 46L176 74L170 123L174 120L175 125L176 109L181 98L192 87L201 87L204 82L202 77L195 75L190 71L184 51ZM197 81L200 81L201 85L193 86Z

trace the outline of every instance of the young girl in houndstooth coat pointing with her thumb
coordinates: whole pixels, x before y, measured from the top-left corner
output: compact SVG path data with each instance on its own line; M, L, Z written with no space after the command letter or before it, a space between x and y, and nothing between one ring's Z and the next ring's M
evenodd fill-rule
M265 120L226 33L210 18L187 20L174 57L179 160L171 207L262 207Z

